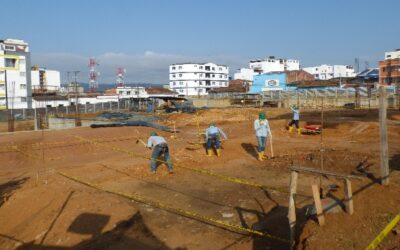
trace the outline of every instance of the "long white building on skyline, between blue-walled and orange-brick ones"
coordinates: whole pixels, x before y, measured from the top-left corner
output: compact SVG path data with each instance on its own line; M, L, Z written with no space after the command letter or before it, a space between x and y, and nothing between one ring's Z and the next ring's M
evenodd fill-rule
M357 74L351 65L327 65L303 68L304 71L314 75L317 80L329 80L332 78L355 77Z

